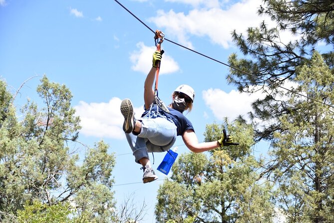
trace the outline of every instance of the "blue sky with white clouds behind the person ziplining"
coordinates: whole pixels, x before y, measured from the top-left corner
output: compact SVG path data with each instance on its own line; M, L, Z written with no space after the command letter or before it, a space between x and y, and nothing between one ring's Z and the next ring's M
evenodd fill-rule
M119 0L151 29L167 39L227 63L242 54L231 38L235 29L245 33L263 20L257 14L261 0ZM27 98L38 101L36 87L43 75L65 84L73 94L72 106L81 118L79 141L93 146L103 139L114 153L117 205L132 196L146 203L143 222L154 221L157 190L165 177L157 169L165 153L154 155L159 179L142 183L142 170L134 162L122 131L120 103L130 98L139 117L143 112L143 85L156 49L154 33L114 0L0 0L0 78L15 93L17 108ZM285 35L291 38L291 35ZM195 89L192 121L199 141L205 125L225 117L247 117L250 103L261 94L241 94L229 85L229 67L169 41L161 45L159 97L171 102L180 84ZM24 84L23 84L24 83ZM80 147L80 145L77 145ZM181 137L178 153L190 152ZM261 152L262 147L254 147ZM84 148L82 148L84 152ZM150 154L151 159L152 154ZM153 160L152 160L153 161Z

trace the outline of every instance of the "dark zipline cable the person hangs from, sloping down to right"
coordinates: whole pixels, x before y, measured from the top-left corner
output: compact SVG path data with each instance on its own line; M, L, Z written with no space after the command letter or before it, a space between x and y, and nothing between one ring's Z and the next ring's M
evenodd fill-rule
M136 18L138 21L140 21L143 25L145 25L149 30L151 30L153 33L155 33L155 31L153 31L152 28L150 28L147 24L145 24L145 22L143 22L142 20L140 20L140 18L138 18L135 14L133 14L129 9L127 9L127 8L126 8L123 4L121 4L118 0L114 0L114 1L116 1L120 6L122 6L126 11L128 11L133 17L135 17L135 18ZM204 56L204 57L207 57L207 58L209 58L209 59L211 59L211 60L214 60L214 61L216 61L216 62L218 62L218 63L221 63L221 64L223 64L223 65L226 65L226 66L228 66L228 67L230 67L230 68L232 68L232 69L236 69L236 70L238 70L238 71L240 71L240 72L243 72L243 73L245 73L245 74L251 75L251 76L253 76L253 77L255 77L255 78L258 78L258 79L260 79L260 80L262 80L262 81L264 81L264 82L266 82L266 83L268 83L268 84L270 84L270 85L274 85L274 86L277 86L277 87L281 87L281 88L283 88L283 89L285 89L285 90L288 90L288 91L290 91L290 92L292 92L292 93L298 94L298 95L300 95L300 96L302 96L302 97L306 97L306 98L308 98L308 99L310 99L310 100L314 100L314 101L317 101L317 102L319 102L319 103L322 103L322 104L324 104L324 105L327 105L327 106L330 106L330 107L334 108L334 106L331 105L331 104L327 104L327 103L325 103L325 102L323 102L323 101L320 101L320 100L318 100L318 99L316 99L316 98L309 97L309 96L304 95L304 94L302 94L302 93L299 93L299 92L297 92L297 91L294 91L294 90L288 89L288 88L286 88L286 87L284 87L284 86L281 86L281 85L279 85L279 84L277 84L277 83L271 82L271 81L269 81L269 80L265 80L265 79L263 79L263 78L261 78L261 77L258 77L258 76L254 75L254 74L252 74L252 73L249 73L249 72L247 72L247 71L245 71L245 70L239 69L238 67L234 67L234 66L229 65L229 64L227 64L227 63L224 63L224 62L222 62L222 61L220 61L220 60L217 60L217 59L215 59L215 58L212 58L212 57L210 57L210 56L208 56L208 55L205 55L205 54L203 54L203 53L200 53L200 52L198 52L198 51L196 51L196 50L193 50L193 49L191 49L191 48L188 48L188 47L186 47L186 46L184 46L184 45L181 45L181 44L179 44L179 43L177 43L177 42L175 42L175 41L172 41L172 40L170 40L170 39L168 39L168 38L165 38L165 40L167 40L167 41L169 41L169 42L171 42L171 43L174 43L174 44L176 44L176 45L178 45L178 46L180 46L180 47L183 47L183 48L185 48L185 49L188 49L188 50L190 50L190 51L192 51L192 52L195 52L195 53L197 53L197 54L199 54L199 55L201 55L201 56Z

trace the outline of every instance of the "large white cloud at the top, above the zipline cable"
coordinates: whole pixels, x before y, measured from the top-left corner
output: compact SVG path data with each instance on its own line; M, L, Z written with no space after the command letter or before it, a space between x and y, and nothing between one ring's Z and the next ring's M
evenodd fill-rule
M179 0L190 2L190 0ZM204 1L197 0L201 3ZM234 45L231 32L245 32L250 26L259 26L266 20L268 24L274 24L268 17L260 17L257 10L262 0L245 0L231 5L227 9L219 7L192 9L184 12L168 12L159 10L157 16L151 17L149 21L161 27L164 33L174 36L181 44L193 48L189 35L208 36L215 44L228 48ZM170 37L169 37L170 38Z

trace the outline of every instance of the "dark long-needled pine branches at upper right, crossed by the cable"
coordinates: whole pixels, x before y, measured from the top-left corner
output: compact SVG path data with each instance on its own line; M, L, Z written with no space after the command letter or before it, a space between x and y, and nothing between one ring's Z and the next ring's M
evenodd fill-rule
M334 67L333 0L263 2L259 14L269 15L277 26L271 28L263 22L259 27L248 28L246 35L233 32L245 58L238 58L236 53L230 55L229 64L239 69L230 69L228 76L240 91L261 91L265 95L253 102L254 110L250 113L256 124L257 140L272 139L274 132L284 130L279 117L290 112L290 108L282 99L285 90L280 86L296 78L296 67L310 59L318 43L328 44L323 57L330 68ZM290 31L298 40L283 42L282 31Z

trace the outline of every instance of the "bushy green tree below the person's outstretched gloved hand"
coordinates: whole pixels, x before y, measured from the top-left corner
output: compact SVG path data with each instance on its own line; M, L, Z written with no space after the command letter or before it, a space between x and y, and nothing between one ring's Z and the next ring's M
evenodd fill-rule
M221 136L223 125L207 125L205 140ZM158 222L272 222L270 184L259 183L259 163L250 155L253 129L229 127L239 146L180 155L171 179L158 190Z

